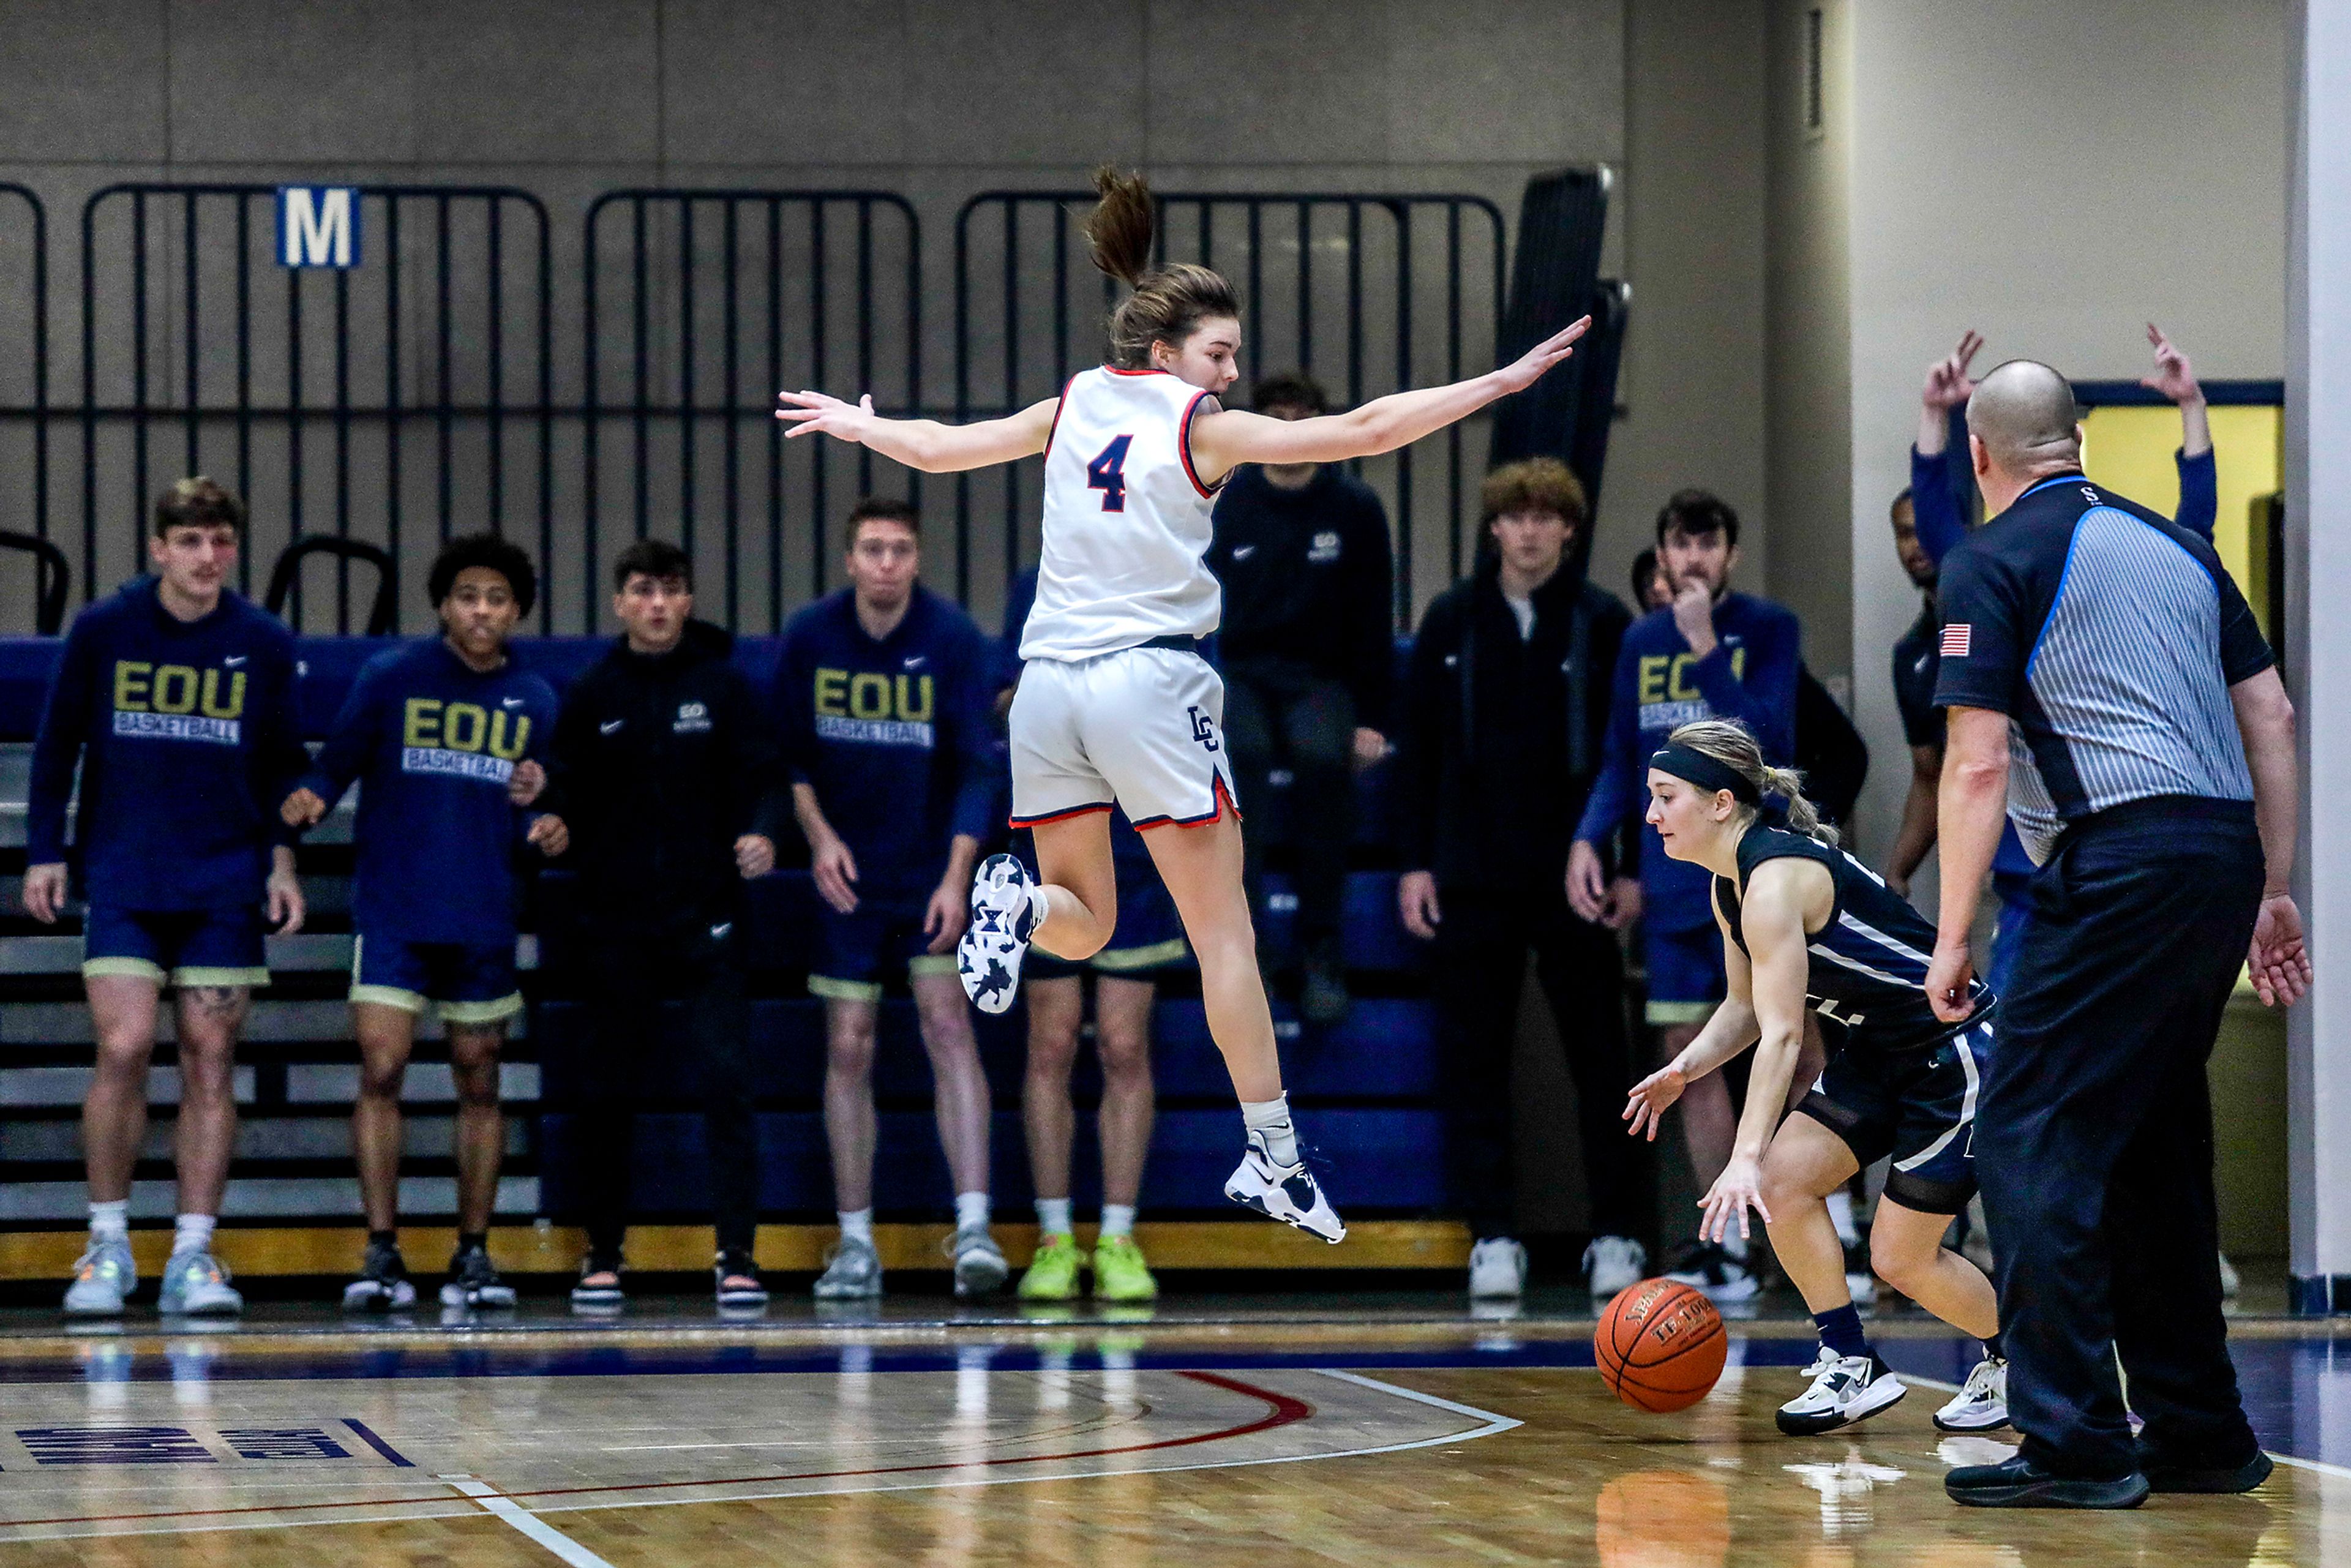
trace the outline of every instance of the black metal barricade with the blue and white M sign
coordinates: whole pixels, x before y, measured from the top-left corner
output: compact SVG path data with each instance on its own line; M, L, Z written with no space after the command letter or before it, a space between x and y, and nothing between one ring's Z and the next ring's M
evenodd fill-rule
M362 186L362 263L289 268L275 200L122 183L82 207L85 595L143 569L146 508L181 473L245 501L247 590L254 557L306 534L379 543L414 585L430 550L402 545L418 529L522 531L552 576L545 205L505 186ZM287 618L350 632L350 597L336 557L331 614L296 585Z

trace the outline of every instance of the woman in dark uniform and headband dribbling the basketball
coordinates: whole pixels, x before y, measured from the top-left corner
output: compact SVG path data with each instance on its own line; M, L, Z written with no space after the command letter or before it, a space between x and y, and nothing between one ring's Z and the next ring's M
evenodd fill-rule
M1834 1432L1888 1408L1907 1389L1862 1335L1846 1288L1846 1255L1829 1194L1855 1171L1893 1157L1886 1199L1869 1227L1869 1262L1942 1321L1984 1342L1965 1389L1935 1413L1944 1432L2008 1425L2008 1363L1998 1302L1982 1269L1942 1234L1975 1197L1975 1088L1991 1053L1994 997L1972 983L1975 1011L1942 1023L1925 997L1935 931L1876 872L1836 849L1789 769L1763 764L1744 726L1683 724L1648 759L1648 820L1665 853L1714 872L1728 999L1660 1072L1632 1088L1632 1131L1657 1135L1657 1117L1761 1037L1747 1114L1730 1164L1702 1199L1700 1239L1721 1241L1747 1211L1770 1227L1773 1251L1820 1326L1813 1385L1780 1406L1791 1436ZM1763 797L1787 802L1784 816ZM1777 1135L1789 1077L1803 1048L1803 1009L1843 1025L1813 1093ZM1834 1041L1834 1034L1831 1034Z

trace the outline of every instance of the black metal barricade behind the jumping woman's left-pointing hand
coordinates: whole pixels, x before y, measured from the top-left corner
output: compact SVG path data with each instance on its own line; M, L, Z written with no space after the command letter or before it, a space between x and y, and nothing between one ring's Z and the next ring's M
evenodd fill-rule
M588 625L602 564L661 534L701 567L705 614L781 628L802 590L825 592L832 517L872 489L875 456L804 440L785 461L776 390L919 409L912 205L886 190L611 190L588 209L583 266Z

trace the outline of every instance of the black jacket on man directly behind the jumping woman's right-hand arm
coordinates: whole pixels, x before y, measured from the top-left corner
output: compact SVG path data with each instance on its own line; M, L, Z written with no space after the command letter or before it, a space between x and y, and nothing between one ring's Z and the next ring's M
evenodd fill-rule
M1215 501L1206 559L1225 590L1227 670L1260 661L1312 670L1347 686L1357 724L1389 726L1394 559L1387 510L1368 484L1324 463L1305 489L1281 489L1244 463Z

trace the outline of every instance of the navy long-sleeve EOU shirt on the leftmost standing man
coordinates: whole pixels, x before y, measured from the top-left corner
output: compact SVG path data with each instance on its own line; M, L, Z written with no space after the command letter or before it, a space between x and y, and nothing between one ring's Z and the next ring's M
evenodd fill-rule
M294 726L294 635L233 592L200 621L179 621L155 585L134 578L66 632L33 743L26 863L66 858L80 759L75 846L92 903L259 905L270 849L292 842L277 802L308 766Z

